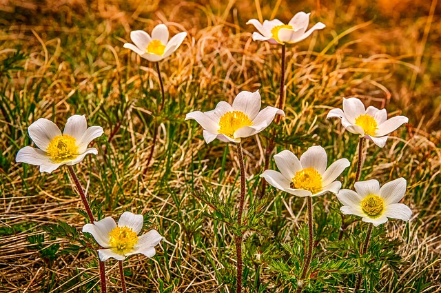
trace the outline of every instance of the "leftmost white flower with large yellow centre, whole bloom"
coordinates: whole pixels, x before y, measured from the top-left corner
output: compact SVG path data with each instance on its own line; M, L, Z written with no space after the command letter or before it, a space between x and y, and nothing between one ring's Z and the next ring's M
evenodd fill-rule
M98 150L88 148L88 144L101 137L103 128L88 128L84 115L74 115L66 122L63 134L55 123L44 118L32 123L28 132L39 149L24 147L17 153L15 161L39 165L40 172L50 173L61 165L81 162L86 154L98 154Z

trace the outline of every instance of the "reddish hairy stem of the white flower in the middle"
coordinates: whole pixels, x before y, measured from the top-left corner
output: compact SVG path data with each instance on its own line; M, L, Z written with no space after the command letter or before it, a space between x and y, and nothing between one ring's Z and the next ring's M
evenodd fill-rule
M243 150L242 145L237 143L237 154L239 158L240 165L240 200L239 200L239 210L237 215L237 223L239 229L242 226L242 212L243 204L245 201L245 163L243 161ZM236 255L237 255L237 293L242 292L242 237L243 235L236 236L234 239L236 242Z

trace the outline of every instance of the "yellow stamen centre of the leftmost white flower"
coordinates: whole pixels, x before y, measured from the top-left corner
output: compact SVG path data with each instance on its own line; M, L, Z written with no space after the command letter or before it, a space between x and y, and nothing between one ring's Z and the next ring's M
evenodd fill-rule
M68 134L61 134L54 137L52 141L50 141L46 152L53 163L73 160L78 156L76 139Z

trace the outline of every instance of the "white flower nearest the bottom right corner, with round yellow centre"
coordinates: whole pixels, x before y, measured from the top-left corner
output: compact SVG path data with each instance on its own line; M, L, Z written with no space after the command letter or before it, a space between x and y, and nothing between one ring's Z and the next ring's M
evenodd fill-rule
M406 179L399 178L380 188L376 180L359 181L355 184L356 192L342 189L337 198L344 206L343 214L362 216L362 221L378 226L387 222L387 218L409 221L412 211L407 205L398 203L406 193Z

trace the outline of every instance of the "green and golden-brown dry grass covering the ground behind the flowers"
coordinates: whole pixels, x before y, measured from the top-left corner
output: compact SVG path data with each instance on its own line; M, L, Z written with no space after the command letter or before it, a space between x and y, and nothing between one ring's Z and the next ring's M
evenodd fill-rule
M362 179L387 182L404 176L404 203L411 221L391 221L376 233L402 259L381 267L373 292L441 291L441 8L436 1L2 1L0 2L0 292L90 292L99 282L96 260L77 241L51 236L48 224L62 220L81 229L83 206L65 168L40 174L14 162L30 145L28 125L40 117L62 126L71 114L86 114L105 134L94 142L99 155L75 169L88 195L115 219L125 211L150 212L150 225L166 241L154 259L125 262L129 292L231 292L233 236L192 196L214 188L234 203L238 159L234 145L206 145L202 129L185 122L192 110L211 110L240 90L260 90L275 105L280 50L252 41L248 19L288 21L300 10L325 30L287 50L287 118L278 150L302 153L326 148L331 160L346 157L342 176L351 188L357 140L338 121L325 119L342 97L386 107L409 117L383 149L369 144ZM258 3L258 4L256 4ZM369 4L367 4L369 3ZM256 9L260 7L259 9ZM152 63L123 48L131 30L150 32L167 23L172 34L187 31L181 48L160 63L167 105L154 121L161 97ZM158 123L154 162L145 162ZM249 200L258 189L269 131L244 142ZM270 189L269 189L270 190ZM333 252L340 227L335 196L314 199L317 254ZM95 205L95 206L96 206ZM96 210L95 210L96 211ZM303 199L276 192L265 213L271 236L245 241L245 285L250 292L290 292L274 259L289 263L289 249L305 228ZM351 232L365 231L352 225ZM74 230L71 231L73 239ZM83 236L81 236L83 237ZM294 243L294 244L293 244ZM389 246L387 246L389 245ZM121 292L117 263L107 262L110 292ZM353 274L322 291L347 292ZM353 285L352 285L353 286Z

